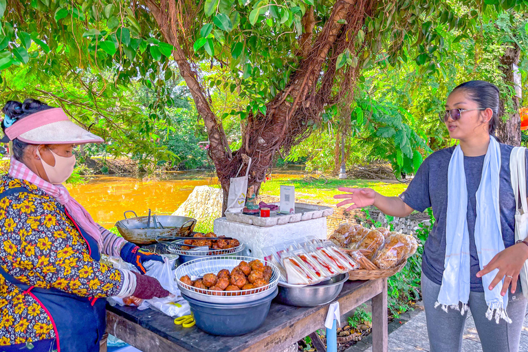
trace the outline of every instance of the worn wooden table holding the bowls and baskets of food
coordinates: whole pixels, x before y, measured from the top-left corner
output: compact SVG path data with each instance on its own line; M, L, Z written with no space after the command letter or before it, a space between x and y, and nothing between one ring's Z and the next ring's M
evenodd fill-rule
M373 352L387 352L386 279L347 281L337 299L343 315L371 298ZM152 309L107 305L107 332L144 352L278 352L321 329L328 306L301 308L272 302L270 314L259 329L243 336L223 337L197 327L177 326L172 318Z

